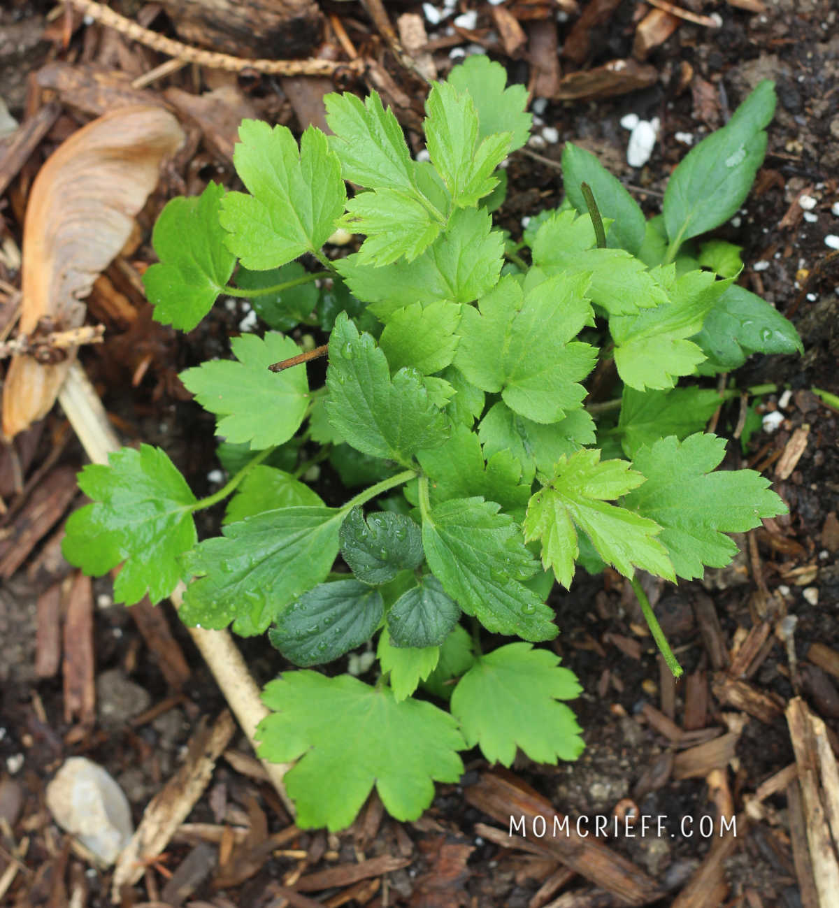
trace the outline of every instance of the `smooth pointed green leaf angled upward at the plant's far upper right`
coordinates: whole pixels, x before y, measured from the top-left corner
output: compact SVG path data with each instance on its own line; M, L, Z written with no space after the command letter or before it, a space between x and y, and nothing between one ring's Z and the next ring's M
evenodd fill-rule
M671 248L725 223L743 204L766 153L775 83L765 79L722 129L692 148L671 174L664 218Z

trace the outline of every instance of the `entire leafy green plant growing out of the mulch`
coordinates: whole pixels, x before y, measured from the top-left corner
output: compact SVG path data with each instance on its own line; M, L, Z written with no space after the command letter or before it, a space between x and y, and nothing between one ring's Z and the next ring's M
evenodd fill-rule
M158 320L192 330L228 294L271 329L182 375L218 417L232 479L196 500L162 450L123 449L80 474L93 503L70 518L64 553L90 574L124 562L114 593L126 604L183 578L184 622L267 630L300 666L265 688L261 735L262 755L297 761L286 782L303 826L349 824L373 785L391 814L416 817L474 745L505 765L517 747L575 759L580 729L562 701L577 679L532 646L558 634L555 578L569 587L579 564L630 578L679 671L637 570L701 577L735 554L726 533L785 512L754 471L718 470L725 441L703 433L739 392L676 387L752 352L801 349L735 285L738 248L695 239L745 199L773 85L687 154L649 222L569 143L566 201L517 243L491 209L498 168L528 138L526 100L498 64L470 59L431 88L426 163L375 93L330 95L335 134L308 129L300 147L284 127L242 123L234 163L248 192L211 183L169 202L154 229L161 262L145 286ZM365 240L331 261L339 226ZM307 349L310 332L329 333L321 387L305 366L282 368L300 359L297 329ZM595 369L614 400L587 403ZM311 488L327 459L365 487L337 507ZM192 514L230 496L222 536L197 543ZM523 642L482 653L481 627ZM309 670L377 634L374 686Z

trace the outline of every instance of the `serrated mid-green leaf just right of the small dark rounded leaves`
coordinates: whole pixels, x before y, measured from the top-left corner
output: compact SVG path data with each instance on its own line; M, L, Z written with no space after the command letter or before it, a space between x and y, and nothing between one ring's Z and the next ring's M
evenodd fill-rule
M468 615L495 634L549 640L554 612L522 580L537 565L513 519L482 498L452 498L423 515L429 568Z

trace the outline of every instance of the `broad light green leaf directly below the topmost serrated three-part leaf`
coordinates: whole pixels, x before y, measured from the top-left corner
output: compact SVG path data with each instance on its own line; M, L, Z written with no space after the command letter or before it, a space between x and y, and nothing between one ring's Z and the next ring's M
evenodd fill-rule
M382 321L403 306L438 300L471 302L498 282L504 240L492 230L488 212L462 209L449 226L413 262L370 268L358 253L335 262L350 290Z

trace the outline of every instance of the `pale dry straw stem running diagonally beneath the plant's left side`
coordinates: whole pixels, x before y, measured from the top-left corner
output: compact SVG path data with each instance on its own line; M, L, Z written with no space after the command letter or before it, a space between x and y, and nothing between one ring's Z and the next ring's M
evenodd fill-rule
M114 430L111 429L102 401L96 396L78 362L74 362L70 367L68 380L59 392L58 401L79 436L87 456L94 463L107 464L108 454L119 448L119 442L114 436ZM175 608L180 607L183 602L184 589L183 584L179 584L170 597ZM262 703L259 688L244 663L242 653L226 630L206 630L202 627L188 629L233 715L238 719L239 725L242 725L242 731L255 749L256 726L269 715L269 710ZM265 760L262 761L262 765L271 784L277 789L282 803L293 817L294 805L286 794L285 785L282 784L282 777L289 765L268 763Z

